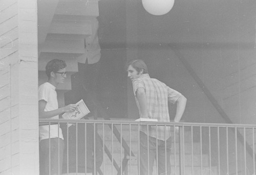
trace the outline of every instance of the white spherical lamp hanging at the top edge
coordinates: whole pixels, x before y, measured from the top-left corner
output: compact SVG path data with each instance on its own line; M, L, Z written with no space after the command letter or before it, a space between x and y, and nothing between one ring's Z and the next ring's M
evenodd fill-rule
M152 15L164 15L174 6L174 0L142 0L144 9Z

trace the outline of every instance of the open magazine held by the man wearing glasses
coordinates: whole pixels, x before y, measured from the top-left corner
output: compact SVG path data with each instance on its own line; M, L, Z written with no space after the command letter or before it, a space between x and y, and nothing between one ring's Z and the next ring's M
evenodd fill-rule
M90 111L86 104L83 102L83 99L81 99L79 102L76 103L76 109L74 112L66 112L62 115L62 118L64 119L81 119L82 117L89 114ZM72 126L72 123L68 124L68 127Z

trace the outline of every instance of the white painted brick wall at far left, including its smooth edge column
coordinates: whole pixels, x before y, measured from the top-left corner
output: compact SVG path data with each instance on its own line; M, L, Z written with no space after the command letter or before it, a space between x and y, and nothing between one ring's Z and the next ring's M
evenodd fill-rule
M0 173L39 174L37 4L0 1Z

